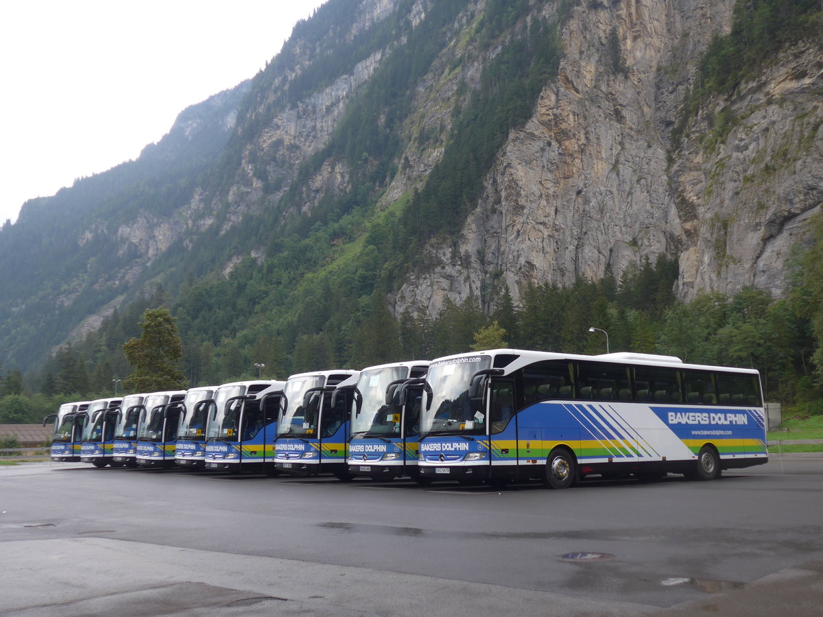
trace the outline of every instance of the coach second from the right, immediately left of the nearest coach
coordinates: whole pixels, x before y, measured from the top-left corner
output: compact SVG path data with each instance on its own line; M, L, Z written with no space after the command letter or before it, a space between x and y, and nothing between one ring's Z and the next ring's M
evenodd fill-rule
M347 463L352 476L416 478L422 378L428 368L428 360L415 360L360 371L351 403Z

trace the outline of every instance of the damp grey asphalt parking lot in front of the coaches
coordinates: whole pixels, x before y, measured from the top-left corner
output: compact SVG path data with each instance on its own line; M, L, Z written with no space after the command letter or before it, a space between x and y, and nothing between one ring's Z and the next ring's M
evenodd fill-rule
M563 491L0 467L0 615L819 615L823 456Z

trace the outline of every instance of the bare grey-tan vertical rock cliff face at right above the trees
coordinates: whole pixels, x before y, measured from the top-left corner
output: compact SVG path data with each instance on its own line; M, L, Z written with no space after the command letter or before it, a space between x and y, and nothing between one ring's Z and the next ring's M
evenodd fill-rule
M713 100L672 152L671 133L700 54L725 34L733 2L628 0L574 7L565 57L532 118L511 132L477 208L437 265L395 299L436 313L507 286L620 276L630 263L679 255L677 293L783 292L788 254L821 205L823 140L817 48L776 58L734 100ZM550 10L550 9L544 9ZM616 42L616 44L615 44ZM712 118L732 128L706 145Z

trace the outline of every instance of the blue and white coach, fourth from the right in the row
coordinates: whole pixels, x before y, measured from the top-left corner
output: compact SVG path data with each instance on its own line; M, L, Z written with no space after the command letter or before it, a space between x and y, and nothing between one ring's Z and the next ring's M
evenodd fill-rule
M286 382L258 380L217 388L207 426L207 469L276 473L274 438L285 386Z

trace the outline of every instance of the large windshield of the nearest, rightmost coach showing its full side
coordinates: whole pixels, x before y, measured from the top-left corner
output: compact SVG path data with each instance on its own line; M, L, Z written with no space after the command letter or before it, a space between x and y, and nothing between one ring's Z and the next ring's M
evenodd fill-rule
M491 367L489 355L467 355L430 364L421 413L421 434L485 434L482 391L469 396L472 375Z

